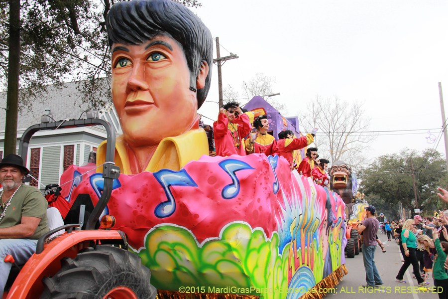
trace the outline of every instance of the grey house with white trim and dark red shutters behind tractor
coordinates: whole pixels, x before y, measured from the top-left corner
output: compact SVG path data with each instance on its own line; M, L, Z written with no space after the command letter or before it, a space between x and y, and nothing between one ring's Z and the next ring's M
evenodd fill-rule
M17 123L17 152L23 132L30 126L41 123L41 116L50 110L55 121L86 117L88 105L82 103L77 82L65 83L62 88L48 86L45 98L33 102L32 109L23 108ZM3 157L4 127L6 117L6 93L0 93L0 161ZM110 105L100 110L100 118L112 124L116 136L121 135L118 117ZM69 128L56 131L37 132L28 148L26 166L32 179L30 184L45 189L47 184L59 183L61 174L70 165L87 164L91 151L96 151L106 140L106 130L101 126Z

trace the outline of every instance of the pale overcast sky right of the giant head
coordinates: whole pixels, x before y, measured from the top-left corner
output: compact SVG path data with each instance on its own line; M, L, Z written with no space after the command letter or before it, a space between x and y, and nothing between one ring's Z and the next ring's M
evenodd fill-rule
M336 95L347 102L365 102L366 116L372 118L369 131L425 129L420 134L379 133L389 135L372 143L366 152L369 158L406 147L419 151L435 147L426 137L429 129L434 129L432 138L438 137L442 127L438 82L448 106L448 1L201 3L192 10L214 38L219 36L221 56L228 52L239 56L222 68L224 87L241 90L243 80L263 72L276 78L273 91L287 105L286 116L296 115L316 95ZM214 65L207 100L218 99ZM218 104L206 102L199 113L216 119ZM443 138L437 149L445 156Z

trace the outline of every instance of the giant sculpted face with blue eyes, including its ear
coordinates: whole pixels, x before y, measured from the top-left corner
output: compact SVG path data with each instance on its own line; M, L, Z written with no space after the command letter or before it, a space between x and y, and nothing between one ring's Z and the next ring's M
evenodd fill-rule
M207 65L198 78L204 73ZM184 51L174 39L159 35L141 45L112 45L112 100L131 147L157 145L190 129L198 104L189 88Z

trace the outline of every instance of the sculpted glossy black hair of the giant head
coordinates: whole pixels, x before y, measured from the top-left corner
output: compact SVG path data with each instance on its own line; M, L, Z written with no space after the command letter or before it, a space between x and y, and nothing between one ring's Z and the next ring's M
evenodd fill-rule
M213 38L197 15L173 0L120 1L109 10L106 27L111 49L113 43L139 45L156 35L175 39L184 50L190 89L194 91L202 62L206 61L209 73L205 86L197 90L198 109L201 107L212 80Z

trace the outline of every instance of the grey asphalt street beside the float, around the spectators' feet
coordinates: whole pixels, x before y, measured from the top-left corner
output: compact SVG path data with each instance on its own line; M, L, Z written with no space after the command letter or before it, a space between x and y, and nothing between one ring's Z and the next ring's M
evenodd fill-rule
M404 280L406 284L402 284L395 281L395 277L401 268L403 263L400 249L397 243L387 241L386 235L378 232L378 237L384 244L386 252L383 253L381 248L377 246L375 250L375 264L378 269L378 273L384 285L381 288L364 289L361 286L366 285L365 282L365 270L364 263L362 261L362 252L352 259L345 258L345 266L347 267L348 274L342 278L342 281L336 286L333 293L329 293L324 299L392 299L392 298L406 298L406 299L437 299L439 298L437 293L431 293L428 288L418 288L417 280L412 276L412 265L406 271ZM428 287L434 287L433 276L430 274L430 278L427 279L430 283ZM370 292L370 293L369 293Z

